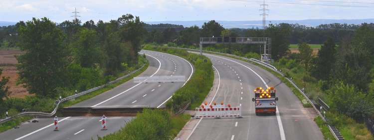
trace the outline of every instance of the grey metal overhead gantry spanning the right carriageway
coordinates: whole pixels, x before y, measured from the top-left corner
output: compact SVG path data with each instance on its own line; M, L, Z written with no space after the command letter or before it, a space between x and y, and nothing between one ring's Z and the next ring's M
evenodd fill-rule
M261 60L268 61L271 56L271 38L269 37L201 37L200 55L202 55L202 44L264 44L264 54L261 55Z

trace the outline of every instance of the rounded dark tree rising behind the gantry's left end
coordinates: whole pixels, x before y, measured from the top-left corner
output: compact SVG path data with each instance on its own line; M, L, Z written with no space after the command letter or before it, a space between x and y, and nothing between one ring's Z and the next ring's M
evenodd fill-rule
M208 23L204 22L201 29L202 37L219 37L224 28L215 20L211 20Z

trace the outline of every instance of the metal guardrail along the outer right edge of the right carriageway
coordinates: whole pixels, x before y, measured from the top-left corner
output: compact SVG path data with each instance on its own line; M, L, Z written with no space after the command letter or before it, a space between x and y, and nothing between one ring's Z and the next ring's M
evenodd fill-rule
M175 48L175 47L170 47L170 48ZM178 48L178 49L185 49L185 50L191 50L191 51L200 51L200 50L196 50L196 49L187 49L187 48ZM247 58L242 58L242 57L238 57L238 56L235 56L235 55L230 55L230 54L225 54L225 53L218 53L218 52L211 52L211 51L204 51L204 52L209 52L209 53L216 53L216 54L222 54L222 55L228 55L228 56L233 56L233 57L236 57L236 58L241 58L241 59L244 59L244 60L248 60L250 62L253 62L253 63L256 63L256 64L259 64L263 67L266 67L270 70L273 70L274 72L277 72L279 73L280 75L284 76L284 74L280 71L278 71L274 66L271 66L267 63L264 63L264 62L261 62L259 60L256 60L256 59L247 59ZM308 102L313 106L313 108L316 110L316 112L318 113L318 115L322 118L322 120L324 122L326 122L326 119L325 117L321 114L321 112L319 111L319 109L316 108L316 106L312 103L312 101L307 97L307 95L304 93L304 91L302 89L300 89L293 81L292 81L292 78L287 78L286 79L297 89L299 90L299 92L308 100ZM328 107L330 108L330 107ZM335 139L336 140L344 140L344 139L338 139L336 133L331 129L331 126L328 125L329 129L330 129L330 132L334 135Z

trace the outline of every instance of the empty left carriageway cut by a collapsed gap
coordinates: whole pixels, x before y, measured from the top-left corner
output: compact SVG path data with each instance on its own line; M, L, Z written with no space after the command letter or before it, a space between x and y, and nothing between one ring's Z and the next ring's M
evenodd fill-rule
M180 57L144 51L150 65L139 76L179 76L189 79L193 73L192 65ZM98 96L77 103L74 107L93 108L134 108L165 107L165 102L184 82L176 83L134 83L125 82ZM132 117L107 116L107 129L101 131L101 117L60 117L58 130L53 131L53 118L35 119L38 123L24 123L18 129L10 129L0 133L0 140L90 140L97 135L103 137L124 127L125 121Z

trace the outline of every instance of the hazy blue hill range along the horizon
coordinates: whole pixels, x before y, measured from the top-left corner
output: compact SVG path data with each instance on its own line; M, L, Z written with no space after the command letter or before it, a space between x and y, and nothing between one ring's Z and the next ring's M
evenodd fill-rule
M183 25L185 27L191 27L196 25L201 28L204 22L209 22L210 20L197 20L197 21L144 21L147 24L176 24L176 25ZM82 21L83 22L83 21ZM252 20L252 21L220 21L216 20L219 24L221 24L224 28L262 28L262 20ZM321 24L331 24L331 23L347 23L347 24L361 24L361 23L374 23L374 19L307 19L307 20L267 20L266 23L290 23L290 24L300 24L306 25L309 27L316 27ZM0 21L0 27L8 26L8 25L15 25L17 22L7 22L7 21Z

